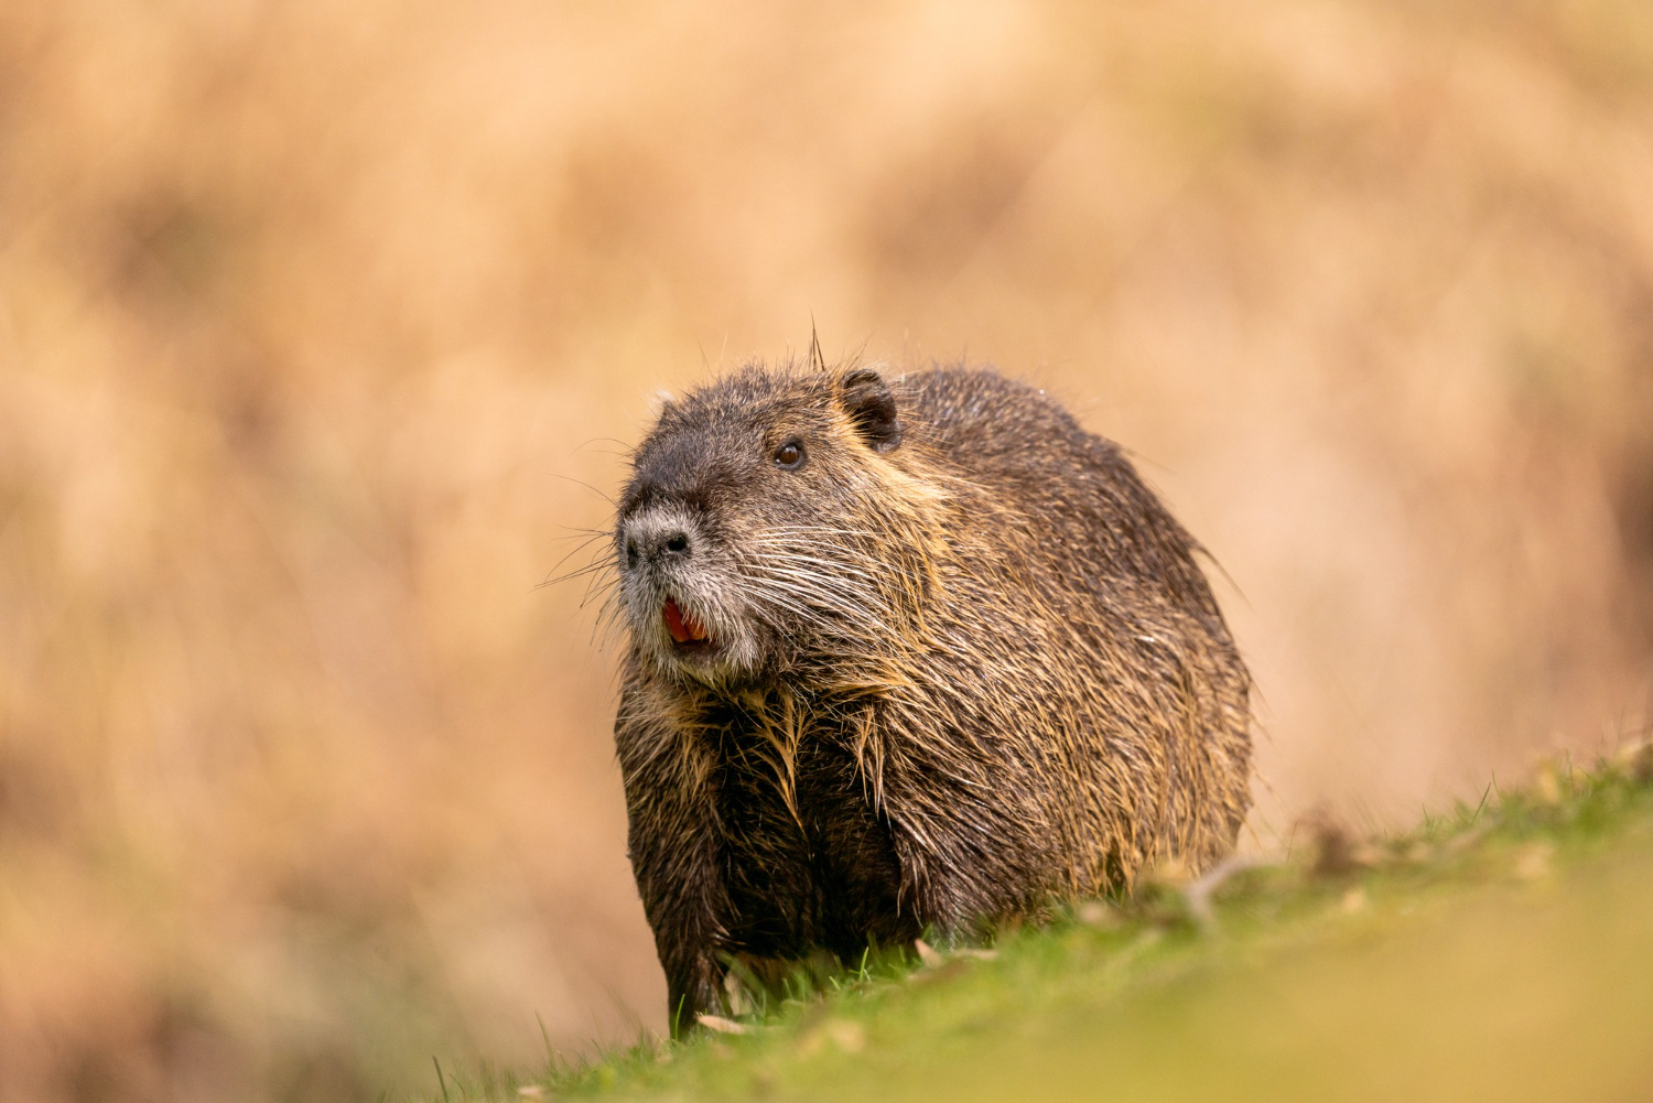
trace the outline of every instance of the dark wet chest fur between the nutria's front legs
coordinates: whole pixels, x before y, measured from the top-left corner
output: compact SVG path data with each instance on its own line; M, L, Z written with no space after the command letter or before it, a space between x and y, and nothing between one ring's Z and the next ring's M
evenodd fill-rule
M749 716L724 719L711 781L732 913L727 949L802 957L825 948L853 962L868 939L917 936L889 825L840 733L803 728L777 739Z

